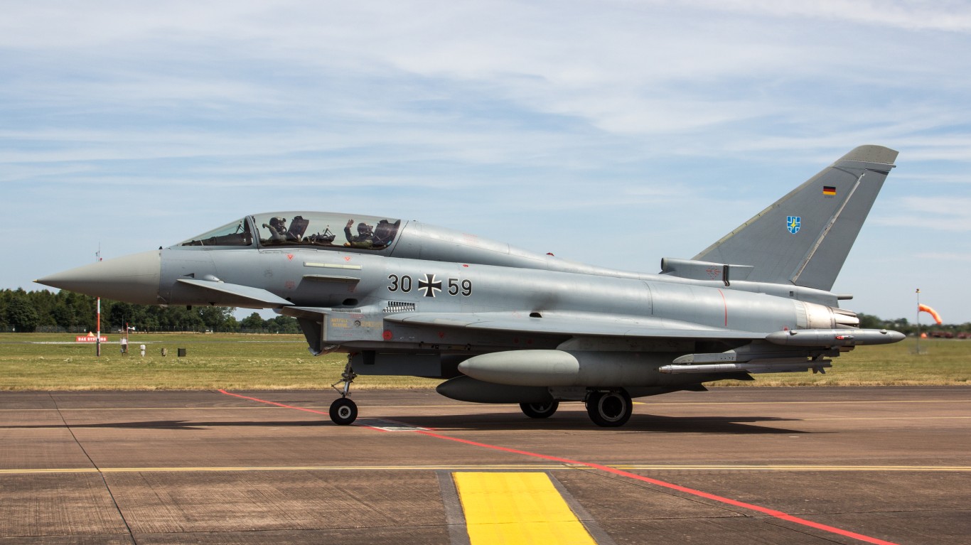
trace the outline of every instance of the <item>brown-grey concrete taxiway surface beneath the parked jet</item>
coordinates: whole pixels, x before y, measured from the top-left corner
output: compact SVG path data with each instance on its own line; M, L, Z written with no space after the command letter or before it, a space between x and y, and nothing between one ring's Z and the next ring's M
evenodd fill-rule
M969 388L678 392L620 428L371 391L342 427L334 392L229 393L289 407L0 392L0 543L470 543L477 471L548 475L601 545L971 543Z

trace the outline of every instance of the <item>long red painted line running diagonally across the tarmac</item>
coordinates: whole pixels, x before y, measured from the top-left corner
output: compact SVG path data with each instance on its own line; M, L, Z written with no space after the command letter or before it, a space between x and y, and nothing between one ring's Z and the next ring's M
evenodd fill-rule
M307 411L309 413L317 413L317 414L320 414L320 415L328 414L328 413L324 413L322 411L315 411L313 409L305 409L303 407L294 407L292 405L285 405L283 403L277 403L276 401L267 401L265 399L258 399L256 397L248 397L246 395L240 395L238 393L226 392L224 390L220 390L219 392L225 393L226 395L234 395L236 397L242 397L244 399L251 399L253 401L258 401L260 403L269 403L270 405L277 405L277 406L280 406L280 407L286 407L288 409L296 409L298 411ZM384 429L381 429L379 427L372 427L372 426L361 426L361 427L369 427L371 429L377 429L379 431L385 431ZM861 533L856 533L854 531L850 531L850 530L846 530L846 529L842 529L842 528L835 528L835 527L831 527L831 526L827 526L827 525L822 525L820 523L814 523L813 521L807 521L806 519L801 519L801 518L796 517L794 515L789 515L788 513L785 513L783 511L777 511L775 509L769 509L768 507L762 507L760 505L755 505L753 503L746 503L744 501L739 501L737 499L731 499L730 497L723 497L723 496L720 496L720 495L717 495L717 494L709 494L707 492L702 492L702 491L698 491L698 490L694 490L694 489L689 489L689 488L683 487L681 485L675 485L673 483L668 483L668 482L665 482L665 481L659 481L657 479L652 479L651 477L645 477L643 475L637 475L636 473L631 473L629 471L624 471L622 469L617 469L615 467L610 467L610 466L607 466L607 465L601 465L599 463L592 463L592 462L580 461L580 460L570 460L570 459L567 459L567 458L559 458L559 457L555 457L555 456L541 455L541 454L538 454L538 453L531 453L529 451L520 451L519 449L511 449L509 447L500 447L498 445L489 445L487 443L480 443L478 441L471 441L469 439L459 439L458 437L451 437L449 435L443 435L441 433L434 433L434 432L431 432L431 431L424 431L424 430L421 430L421 429L416 429L414 431L414 433L420 433L421 435L427 435L428 437L435 437L437 439L445 439L445 440L448 440L448 441L455 441L456 443L463 443L463 444L466 444L466 445L471 445L473 447L482 447L482 448L485 448L485 449L492 449L492 450L495 450L495 451L501 451L501 452L510 453L510 454L518 454L518 455L528 456L528 457L532 457L532 458L538 458L538 459L542 459L542 460L557 461L557 462L560 462L560 463L569 463L571 465L583 465L583 466L589 467L591 469L599 469L601 471L606 471L608 473L613 473L615 475L619 475L620 477L627 477L628 479L635 479L637 481L642 481L642 482L649 483L649 484L652 484L652 485L655 485L655 486L658 486L658 487L663 487L663 488L666 488L666 489L675 490L675 491L678 491L678 492L681 492L681 493L685 493L685 494L691 494L691 495L696 495L696 496L699 496L699 497L704 497L704 498L707 498L707 499L712 499L714 501L718 501L720 503L725 503L725 504L728 504L728 505L733 505L735 507L742 507L744 509L749 509L749 510L752 510L752 511L755 511L755 512L758 512L758 513L762 513L762 514L765 514L765 515L769 515L770 517L775 517L777 519L780 519L780 520L783 520L783 521L788 521L790 523L795 523L797 525L802 525L802 526L809 527L809 528L816 528L816 529L820 529L822 531L828 531L830 533L835 533L837 535L842 535L844 537L851 537L853 539L858 539L859 541L864 541L866 543L873 543L875 545L898 545L897 543L893 543L892 541L885 541L883 539L878 539L876 537L870 537L869 535L863 535Z

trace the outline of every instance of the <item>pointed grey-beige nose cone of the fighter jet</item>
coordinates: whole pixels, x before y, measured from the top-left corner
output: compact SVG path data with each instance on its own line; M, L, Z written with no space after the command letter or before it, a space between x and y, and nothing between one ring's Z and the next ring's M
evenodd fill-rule
M161 256L155 250L91 263L34 282L94 297L156 305L161 264Z

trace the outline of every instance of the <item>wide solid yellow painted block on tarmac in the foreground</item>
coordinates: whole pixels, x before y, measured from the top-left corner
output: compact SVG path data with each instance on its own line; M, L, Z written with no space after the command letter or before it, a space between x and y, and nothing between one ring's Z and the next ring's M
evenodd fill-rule
M472 545L596 545L546 473L453 473Z

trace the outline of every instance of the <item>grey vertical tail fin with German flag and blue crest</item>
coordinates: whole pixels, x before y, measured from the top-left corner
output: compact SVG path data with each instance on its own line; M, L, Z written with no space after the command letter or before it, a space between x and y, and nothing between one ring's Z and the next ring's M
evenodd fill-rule
M854 149L693 259L752 265L753 282L831 290L896 156Z

